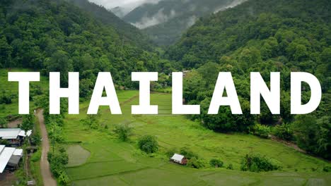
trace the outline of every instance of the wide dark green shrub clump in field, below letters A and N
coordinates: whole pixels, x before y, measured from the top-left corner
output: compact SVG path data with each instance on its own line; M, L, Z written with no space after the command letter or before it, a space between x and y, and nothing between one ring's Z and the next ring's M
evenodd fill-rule
M259 154L246 154L241 163L241 171L260 172L279 169L281 169L279 161L260 156Z

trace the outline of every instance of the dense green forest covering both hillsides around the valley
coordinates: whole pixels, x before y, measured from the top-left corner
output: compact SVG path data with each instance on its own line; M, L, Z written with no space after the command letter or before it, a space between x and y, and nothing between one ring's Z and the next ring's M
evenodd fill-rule
M91 95L100 71L110 71L120 89L137 87L131 72L158 71L156 87L161 87L170 85L172 71L187 69L185 101L202 104L202 115L190 116L193 120L216 132L276 135L331 159L330 6L327 0L250 0L199 18L163 54L139 30L85 0L6 0L0 2L0 68L59 71L64 85L67 72L80 72L83 98ZM233 73L243 115L232 115L226 106L207 115L221 71ZM281 114L272 115L262 104L259 116L250 115L250 72L260 72L268 82L269 73L277 71ZM313 73L321 82L323 101L310 115L290 114L291 71ZM305 102L308 87L303 92ZM10 104L2 94L0 104Z

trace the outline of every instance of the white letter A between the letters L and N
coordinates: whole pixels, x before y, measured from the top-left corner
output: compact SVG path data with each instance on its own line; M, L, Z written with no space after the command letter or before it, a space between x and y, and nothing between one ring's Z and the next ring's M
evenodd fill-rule
M223 97L224 89L228 97ZM208 114L218 114L219 106L230 106L233 114L243 114L231 73L219 73Z

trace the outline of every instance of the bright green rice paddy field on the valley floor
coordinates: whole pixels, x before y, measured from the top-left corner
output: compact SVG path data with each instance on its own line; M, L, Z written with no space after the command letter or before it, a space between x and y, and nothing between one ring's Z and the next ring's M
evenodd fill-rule
M186 116L172 116L171 95L151 94L151 104L158 104L158 116L133 116L131 105L139 103L139 92L117 92L122 115L111 115L100 107L99 130L80 123L86 118L88 102L81 104L81 114L66 116L64 133L68 145L66 169L74 185L331 185L331 174L322 173L327 161L302 154L280 142L252 135L220 134L206 130ZM118 123L133 128L129 142L120 142L113 129ZM105 129L104 126L108 128ZM160 150L151 156L137 149L137 138L156 135ZM79 143L80 142L80 143ZM219 158L226 168L193 169L170 163L165 151L188 147L208 165ZM249 173L240 171L245 154L260 153L282 163L282 171ZM314 172L314 170L317 171Z

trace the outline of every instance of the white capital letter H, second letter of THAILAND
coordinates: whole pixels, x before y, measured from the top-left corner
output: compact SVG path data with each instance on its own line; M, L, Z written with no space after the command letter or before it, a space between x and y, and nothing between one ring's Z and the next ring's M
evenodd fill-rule
M69 73L68 88L60 88L60 73L50 73L50 114L60 113L60 98L67 97L69 114L79 114L79 73Z

